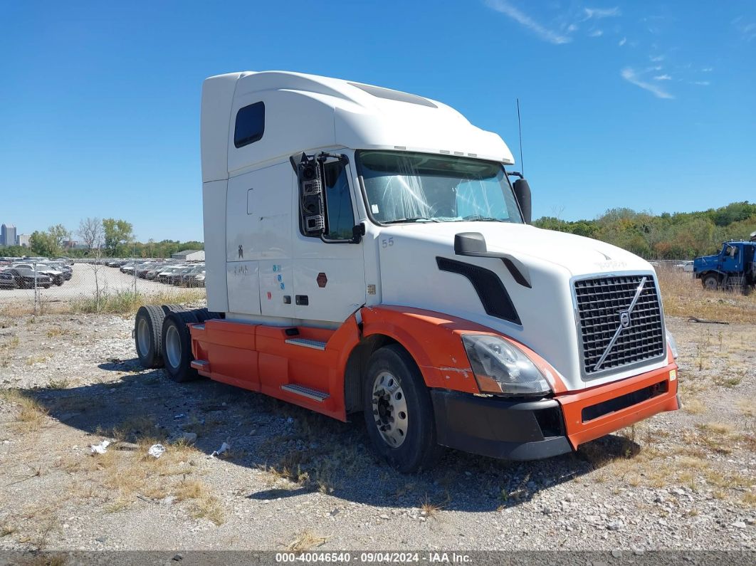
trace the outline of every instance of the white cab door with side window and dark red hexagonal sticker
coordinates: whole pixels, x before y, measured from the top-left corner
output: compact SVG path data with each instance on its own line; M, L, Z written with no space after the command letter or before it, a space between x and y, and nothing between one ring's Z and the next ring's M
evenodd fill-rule
M324 164L327 234L294 233L294 309L309 322L342 323L365 303L363 243L349 243L355 226L355 187L349 164ZM333 324L327 326L335 326Z

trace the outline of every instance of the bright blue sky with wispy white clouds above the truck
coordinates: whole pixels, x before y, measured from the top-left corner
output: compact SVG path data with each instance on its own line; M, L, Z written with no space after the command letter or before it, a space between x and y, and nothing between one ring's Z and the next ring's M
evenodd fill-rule
M756 196L756 3L0 0L0 221L202 238L206 76L422 94L517 149L534 216Z

